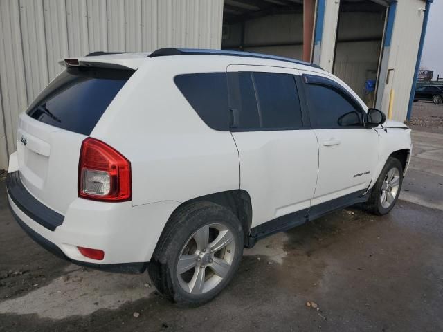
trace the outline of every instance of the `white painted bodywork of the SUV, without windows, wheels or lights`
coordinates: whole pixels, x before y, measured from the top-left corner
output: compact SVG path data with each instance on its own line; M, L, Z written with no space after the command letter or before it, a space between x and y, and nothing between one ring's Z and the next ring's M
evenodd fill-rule
M91 133L92 138L106 142L130 160L132 201L105 203L79 198L78 162L86 136L44 124L26 113L20 116L17 153L11 155L8 169L19 170L30 194L65 219L52 232L10 199L12 210L77 261L93 262L80 255L76 246L104 250L100 264L150 261L172 212L181 203L207 194L238 189L248 192L255 227L369 189L393 151L411 149L410 129L215 131L199 118L173 80L183 73L247 68L323 75L341 84L367 111L341 80L311 66L221 55L103 55L79 60L138 68ZM391 127L401 126L404 124ZM21 143L21 136L26 136L28 144ZM331 141L332 145L325 145ZM352 178L365 171L370 173Z

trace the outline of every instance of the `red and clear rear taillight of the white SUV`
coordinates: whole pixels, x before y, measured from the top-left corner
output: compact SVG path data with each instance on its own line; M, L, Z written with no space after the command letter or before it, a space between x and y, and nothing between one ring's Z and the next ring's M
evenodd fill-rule
M80 151L78 196L97 201L129 201L131 163L106 143L87 138Z

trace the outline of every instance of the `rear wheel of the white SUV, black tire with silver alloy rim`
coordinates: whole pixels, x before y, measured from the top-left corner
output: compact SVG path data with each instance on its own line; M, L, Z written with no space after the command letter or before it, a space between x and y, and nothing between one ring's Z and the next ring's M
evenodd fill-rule
M243 246L242 225L233 212L215 203L190 203L172 214L148 273L159 293L168 299L200 306L233 278Z

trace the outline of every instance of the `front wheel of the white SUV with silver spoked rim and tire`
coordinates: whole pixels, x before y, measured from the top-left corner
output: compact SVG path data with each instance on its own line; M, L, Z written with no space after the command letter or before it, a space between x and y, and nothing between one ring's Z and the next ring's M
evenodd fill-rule
M379 216L388 214L397 203L402 183L403 167L397 158L389 157L377 182L372 187L369 199L365 203L365 209Z

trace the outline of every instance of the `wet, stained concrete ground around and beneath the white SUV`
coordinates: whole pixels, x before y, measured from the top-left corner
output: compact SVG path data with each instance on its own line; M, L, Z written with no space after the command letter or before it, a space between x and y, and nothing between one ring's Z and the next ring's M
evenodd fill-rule
M390 214L347 209L264 239L195 309L162 299L146 274L53 257L13 221L0 182L0 331L443 331L443 135L413 142Z

